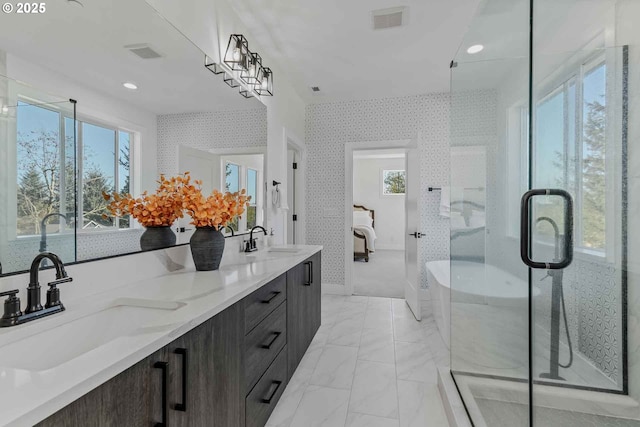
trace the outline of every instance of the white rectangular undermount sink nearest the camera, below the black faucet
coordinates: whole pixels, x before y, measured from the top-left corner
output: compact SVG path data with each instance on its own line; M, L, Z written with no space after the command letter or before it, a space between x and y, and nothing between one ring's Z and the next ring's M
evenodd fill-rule
M184 305L135 298L114 300L98 312L7 344L11 351L0 352L0 366L46 371L119 337L135 335L136 331L165 317L167 311Z

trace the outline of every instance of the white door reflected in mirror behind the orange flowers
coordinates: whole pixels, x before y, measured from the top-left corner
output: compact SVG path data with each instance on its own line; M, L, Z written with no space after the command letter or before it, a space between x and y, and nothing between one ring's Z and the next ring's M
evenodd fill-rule
M221 164L220 156L207 151L196 150L185 146L178 149L178 170L180 173L190 172L191 180L202 181L202 193L210 194L214 188L221 188ZM188 243L195 231L190 224L191 217L185 215L178 220L177 229L184 228L184 232L178 233L177 243Z

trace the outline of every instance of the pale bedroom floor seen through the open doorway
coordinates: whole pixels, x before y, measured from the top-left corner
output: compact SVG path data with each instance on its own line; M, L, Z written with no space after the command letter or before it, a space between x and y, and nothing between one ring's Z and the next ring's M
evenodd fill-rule
M353 293L356 295L404 298L404 251L378 249L369 262L353 262Z

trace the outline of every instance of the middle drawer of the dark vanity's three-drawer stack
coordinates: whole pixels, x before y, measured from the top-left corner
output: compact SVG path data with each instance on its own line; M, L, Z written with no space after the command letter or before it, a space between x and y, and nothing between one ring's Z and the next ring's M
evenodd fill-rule
M244 339L245 390L249 392L287 342L287 305L280 304Z

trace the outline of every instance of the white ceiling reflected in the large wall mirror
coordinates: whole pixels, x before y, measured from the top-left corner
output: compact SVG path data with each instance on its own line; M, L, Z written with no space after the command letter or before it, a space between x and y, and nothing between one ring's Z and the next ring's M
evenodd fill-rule
M81 1L84 7L50 1L42 15L3 14L0 50L155 114L262 106L205 69L204 54L144 0ZM123 47L137 43L163 57L143 60ZM125 89L125 81L138 90Z

